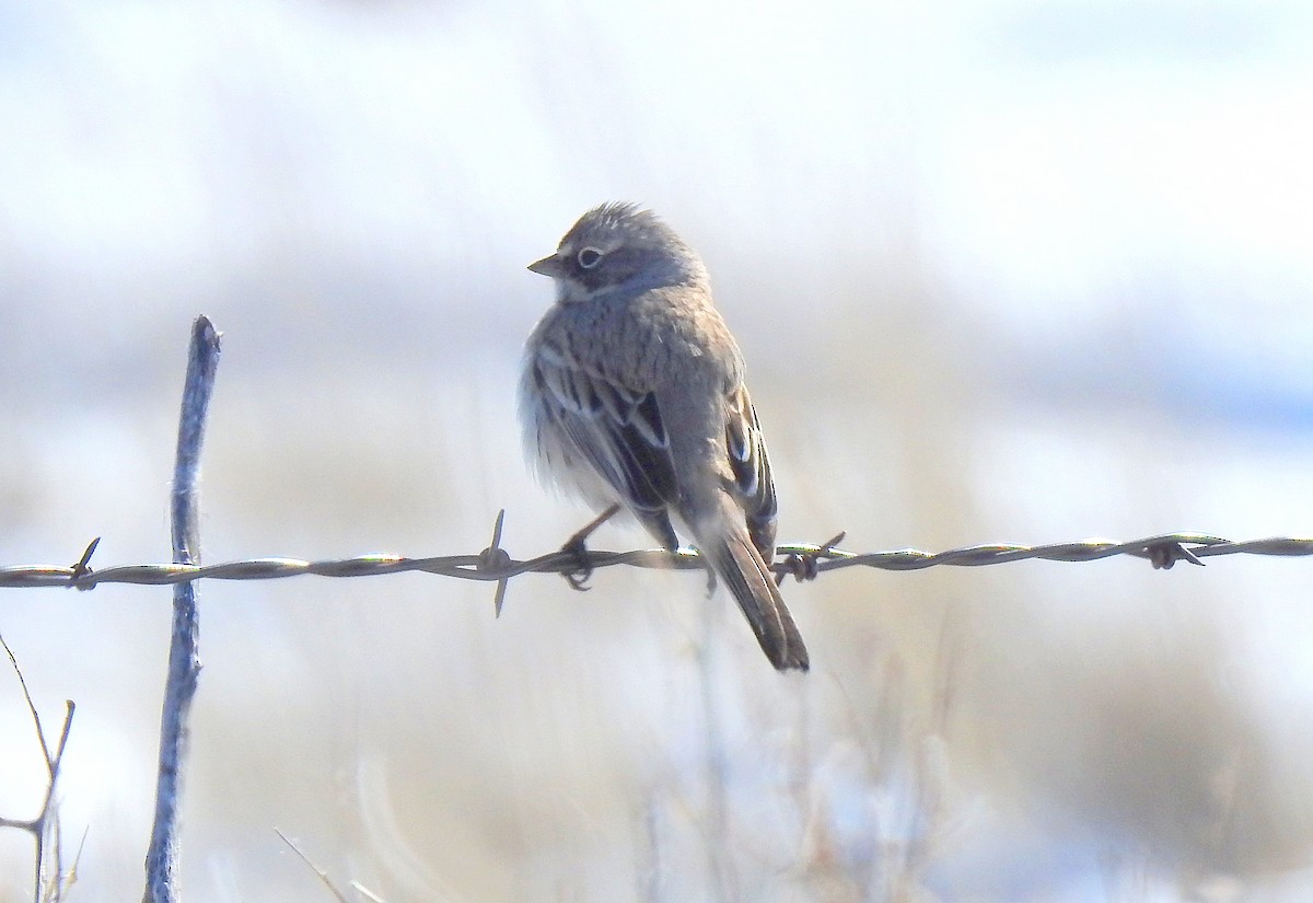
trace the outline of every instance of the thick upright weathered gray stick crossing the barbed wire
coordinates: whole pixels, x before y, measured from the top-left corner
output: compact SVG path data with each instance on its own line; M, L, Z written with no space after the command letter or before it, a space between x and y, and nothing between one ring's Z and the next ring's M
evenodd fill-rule
M205 420L218 365L219 333L209 319L198 316L192 327L186 382L183 387L183 411L177 427L177 455L173 465L173 560L183 566L194 566L200 559L197 508L201 445L205 440ZM84 568L85 566L83 562ZM169 643L164 710L160 717L155 826L146 854L144 903L173 903L177 899L177 810L186 760L188 721L201 671L198 638L200 621L194 585L190 581L177 583L173 587L173 637Z

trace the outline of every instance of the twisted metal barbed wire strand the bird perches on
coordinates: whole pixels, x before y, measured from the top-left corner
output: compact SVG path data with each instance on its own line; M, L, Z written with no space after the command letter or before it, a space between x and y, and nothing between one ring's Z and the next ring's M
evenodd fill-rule
M89 563L100 542L97 538L74 564L3 566L0 567L0 587L92 589L102 583L165 585L192 580L281 580L307 574L324 578L364 578L411 571L462 580L496 581L504 585L507 580L521 574L578 575L618 566L658 570L699 570L702 567L701 558L696 551L672 553L664 549L559 550L537 558L515 559L500 545L504 513L498 514L492 545L473 555L407 558L404 555L373 554L319 562L298 558L252 558L221 564L121 564L92 570ZM772 570L781 580L789 575L804 580L814 579L825 571L846 567L919 571L928 567L982 567L1028 559L1094 562L1115 555L1130 555L1149 560L1154 568L1167 570L1182 560L1203 564L1200 559L1216 555L1313 555L1313 538L1271 537L1234 541L1200 533L1165 533L1125 542L1092 538L1041 546L990 543L940 553L919 549L852 553L838 547L842 539L843 534L839 534L821 545L779 546L777 554L783 559L777 560Z

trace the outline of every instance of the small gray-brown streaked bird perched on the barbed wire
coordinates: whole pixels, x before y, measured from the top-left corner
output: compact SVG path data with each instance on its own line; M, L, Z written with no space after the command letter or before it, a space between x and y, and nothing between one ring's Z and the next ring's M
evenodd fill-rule
M633 513L666 549L692 538L780 671L807 650L767 563L775 484L743 357L701 259L632 203L586 213L529 264L557 303L525 345L520 419L540 476Z

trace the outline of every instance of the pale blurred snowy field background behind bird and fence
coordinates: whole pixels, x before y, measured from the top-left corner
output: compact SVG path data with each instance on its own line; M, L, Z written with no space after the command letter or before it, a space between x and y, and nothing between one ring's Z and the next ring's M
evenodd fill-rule
M0 563L168 558L185 345L225 332L204 555L555 549L528 273L587 207L705 256L781 541L1313 530L1313 9L0 3ZM596 547L646 546L618 526ZM201 584L186 899L1305 900L1313 562L785 591L697 575ZM74 899L138 899L169 592L0 591ZM43 769L0 673L0 815ZM30 899L0 832L0 900Z

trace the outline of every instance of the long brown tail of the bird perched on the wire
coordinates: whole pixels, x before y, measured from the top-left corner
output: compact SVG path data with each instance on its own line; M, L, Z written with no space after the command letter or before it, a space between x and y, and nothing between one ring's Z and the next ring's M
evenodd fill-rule
M729 499L726 503L733 504ZM706 556L712 570L743 609L743 616L771 664L777 671L806 671L810 664L807 647L784 605L775 578L748 539L747 529L733 520L726 525L726 520L720 518L717 529L708 530L710 536L699 537L699 551Z

